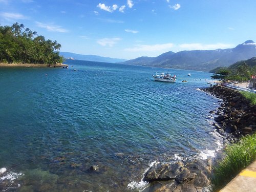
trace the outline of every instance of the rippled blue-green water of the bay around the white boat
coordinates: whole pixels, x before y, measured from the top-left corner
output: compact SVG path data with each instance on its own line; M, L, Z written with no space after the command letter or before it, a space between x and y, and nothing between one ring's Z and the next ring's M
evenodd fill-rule
M127 185L149 163L218 148L217 99L197 90L209 73L172 70L177 82L165 83L152 78L163 69L67 63L0 69L0 168L22 174L15 190L136 191Z

